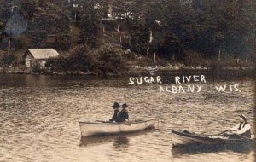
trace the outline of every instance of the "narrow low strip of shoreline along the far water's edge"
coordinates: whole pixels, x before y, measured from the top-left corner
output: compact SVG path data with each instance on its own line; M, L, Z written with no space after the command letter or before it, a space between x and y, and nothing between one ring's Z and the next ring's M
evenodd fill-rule
M150 75L149 66L131 66L127 72L119 74L107 73L106 75L100 75L96 72L81 72L81 71L67 71L67 72L51 72L49 69L44 69L42 72L32 72L31 68L25 67L0 67L0 74L31 74L31 75L81 75L81 76L141 76ZM157 72L214 72L214 71L235 71L235 72L252 72L254 67L189 67L189 66L159 66Z

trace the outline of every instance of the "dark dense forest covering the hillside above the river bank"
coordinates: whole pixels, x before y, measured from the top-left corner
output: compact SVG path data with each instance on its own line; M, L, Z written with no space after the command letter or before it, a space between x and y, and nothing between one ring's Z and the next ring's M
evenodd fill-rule
M146 55L148 50L172 59L183 59L189 51L209 58L219 54L250 58L256 51L256 2L252 0L0 3L0 47L4 50L11 41L14 50L39 47L59 51L79 44L98 49L106 42L114 42L137 54ZM80 56L81 61L91 59L84 55L73 55L73 59ZM91 66L83 68L94 68Z

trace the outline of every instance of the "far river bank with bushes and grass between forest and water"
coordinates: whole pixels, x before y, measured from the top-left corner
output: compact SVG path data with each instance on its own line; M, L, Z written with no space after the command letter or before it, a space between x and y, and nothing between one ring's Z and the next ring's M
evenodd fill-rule
M46 68L35 65L24 66L26 50L6 54L0 52L1 73L34 73L55 75L143 75L148 69L157 67L158 71L177 70L247 70L253 69L253 59L241 60L235 57L205 58L195 52L187 51L183 60L160 55L142 55L123 49L117 43L105 43L98 49L79 45L58 58L49 59Z

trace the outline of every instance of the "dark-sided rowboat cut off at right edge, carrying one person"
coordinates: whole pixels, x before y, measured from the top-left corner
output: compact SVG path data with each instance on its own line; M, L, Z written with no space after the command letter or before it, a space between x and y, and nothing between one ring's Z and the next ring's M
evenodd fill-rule
M198 135L189 132L172 130L172 146L186 146L186 145L241 145L245 143L253 143L253 138L229 138L229 136L216 136L216 135Z

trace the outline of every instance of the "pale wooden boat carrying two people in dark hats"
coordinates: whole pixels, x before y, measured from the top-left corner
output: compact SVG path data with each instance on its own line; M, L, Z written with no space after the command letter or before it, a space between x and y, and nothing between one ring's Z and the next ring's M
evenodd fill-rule
M125 123L79 122L81 136L127 133L154 128L157 119L136 119Z

